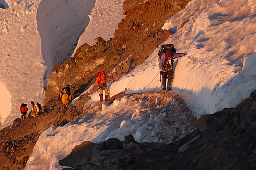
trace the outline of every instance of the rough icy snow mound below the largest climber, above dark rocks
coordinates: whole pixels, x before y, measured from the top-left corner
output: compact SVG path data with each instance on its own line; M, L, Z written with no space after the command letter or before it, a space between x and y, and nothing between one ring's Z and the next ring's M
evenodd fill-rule
M89 114L65 126L51 126L44 131L25 169L60 169L58 160L84 141L124 140L125 135L132 134L139 142L169 143L189 131L179 119L190 111L179 111L174 99L162 97L158 92L125 96L114 100L111 105L102 104L97 115Z

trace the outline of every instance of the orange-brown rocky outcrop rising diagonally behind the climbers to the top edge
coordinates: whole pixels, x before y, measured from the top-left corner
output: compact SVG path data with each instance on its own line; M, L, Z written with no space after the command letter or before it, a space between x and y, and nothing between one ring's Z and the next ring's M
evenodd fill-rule
M118 24L114 38L105 41L97 37L95 45L82 45L74 58L53 68L52 75L47 79L44 104L57 97L59 90L67 84L76 97L94 83L97 72L114 70L114 77L117 78L143 63L171 35L169 30L161 29L166 19L182 10L188 2L125 1L123 8L126 17Z

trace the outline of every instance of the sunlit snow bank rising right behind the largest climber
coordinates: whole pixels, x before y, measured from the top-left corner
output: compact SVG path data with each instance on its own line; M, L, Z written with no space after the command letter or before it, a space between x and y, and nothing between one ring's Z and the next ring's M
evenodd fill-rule
M206 114L236 106L256 88L253 83L256 74L254 67L247 68L250 74L242 73L246 66L245 58L251 58L250 62L253 63L255 60L255 10L250 10L247 1L236 2L191 1L185 10L172 16L163 27L170 30L179 28L163 44L174 44L177 52L188 54L178 59L172 87L193 94L191 100L196 98ZM242 7L236 7L238 3ZM233 12L234 8L236 13ZM189 21L180 28L186 20ZM158 50L145 63L111 84L110 89L115 89L117 94L125 88L138 91L146 87L159 72L156 60ZM239 81L239 86L234 89L229 82L237 79L241 73L253 82ZM158 78L145 90L160 87ZM248 90L244 90L244 87ZM230 94L227 96L228 92Z

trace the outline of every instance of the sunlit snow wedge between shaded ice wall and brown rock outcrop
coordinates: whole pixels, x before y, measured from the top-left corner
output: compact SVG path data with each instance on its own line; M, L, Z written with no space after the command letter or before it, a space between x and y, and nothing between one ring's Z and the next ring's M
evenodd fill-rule
M123 14L123 3L125 0L95 0L95 6L89 15L90 22L84 33L79 37L78 44L72 56L75 55L77 48L87 43L95 44L96 37L109 40L114 37L117 24L125 17ZM102 31L104 30L104 31Z

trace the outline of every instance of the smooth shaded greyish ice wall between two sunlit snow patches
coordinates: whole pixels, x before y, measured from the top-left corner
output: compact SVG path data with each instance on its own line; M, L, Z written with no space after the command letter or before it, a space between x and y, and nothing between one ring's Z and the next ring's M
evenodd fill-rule
M37 10L42 57L47 65L45 78L54 65L67 60L87 27L95 0L45 0ZM46 84L45 84L46 86Z

